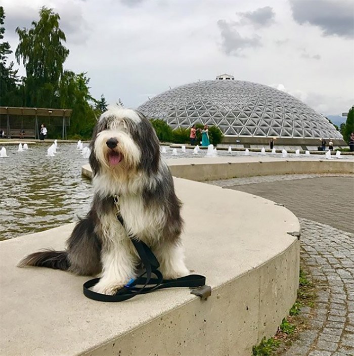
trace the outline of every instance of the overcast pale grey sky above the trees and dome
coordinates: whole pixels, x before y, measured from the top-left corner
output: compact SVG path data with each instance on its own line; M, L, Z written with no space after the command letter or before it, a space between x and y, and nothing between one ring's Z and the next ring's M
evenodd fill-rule
M354 103L352 0L2 0L5 40L41 6L60 14L91 93L138 107L169 87L229 73L272 85L325 115ZM14 59L11 57L10 59ZM21 74L24 74L21 69Z

